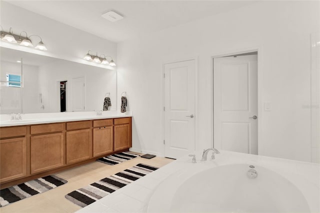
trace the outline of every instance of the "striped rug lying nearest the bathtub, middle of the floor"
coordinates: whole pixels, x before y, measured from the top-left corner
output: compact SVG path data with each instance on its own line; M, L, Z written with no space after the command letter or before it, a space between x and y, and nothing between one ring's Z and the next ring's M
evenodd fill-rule
M65 198L74 204L84 207L156 169L157 167L139 163L83 188L74 190L66 194Z

